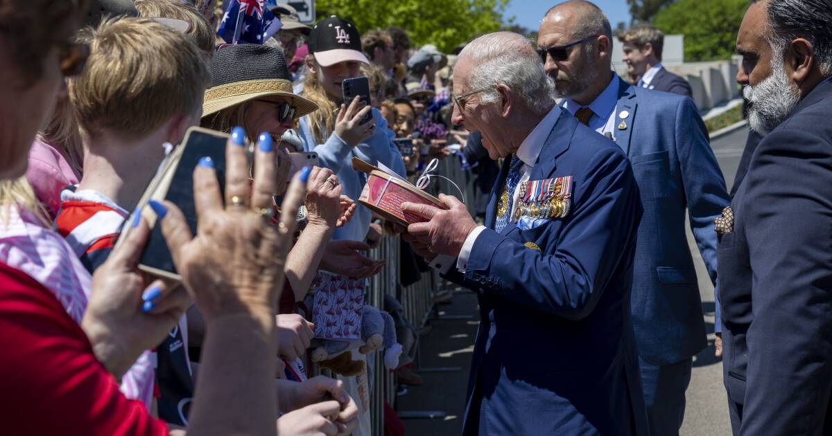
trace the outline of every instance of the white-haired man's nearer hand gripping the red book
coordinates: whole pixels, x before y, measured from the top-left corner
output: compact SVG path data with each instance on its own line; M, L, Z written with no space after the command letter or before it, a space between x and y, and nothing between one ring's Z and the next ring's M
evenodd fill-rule
M402 210L428 218L427 223L414 223L408 226L409 238L414 252L423 255L424 248L435 254L458 257L468 233L477 228L468 209L453 195L439 194L439 199L448 206L448 210L434 208L421 203L402 203ZM435 256L433 256L435 257ZM430 257L431 259L433 257Z

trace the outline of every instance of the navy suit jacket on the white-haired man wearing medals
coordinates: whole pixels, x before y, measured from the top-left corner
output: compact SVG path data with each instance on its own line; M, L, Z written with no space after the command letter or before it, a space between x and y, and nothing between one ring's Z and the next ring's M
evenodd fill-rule
M562 110L557 108L556 110ZM531 179L573 176L566 218L486 227L467 271L478 293L463 434L647 434L629 298L638 188L620 148L562 111Z

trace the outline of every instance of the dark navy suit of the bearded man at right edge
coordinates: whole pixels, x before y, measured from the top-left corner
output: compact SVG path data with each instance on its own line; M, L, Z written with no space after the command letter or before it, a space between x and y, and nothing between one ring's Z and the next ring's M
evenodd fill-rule
M763 136L720 238L734 434L832 434L832 81Z

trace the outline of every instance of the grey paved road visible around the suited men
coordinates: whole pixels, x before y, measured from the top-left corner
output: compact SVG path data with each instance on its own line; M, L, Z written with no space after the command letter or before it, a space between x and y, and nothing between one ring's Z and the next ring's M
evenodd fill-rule
M748 130L742 128L712 141L711 146L719 161L730 189L740 164ZM689 226L686 226L689 227ZM687 408L683 436L730 435L726 393L722 385L722 362L714 357L714 289L711 279L696 250L696 243L688 231L688 241L696 263L700 293L708 328L706 350L696 355L691 386L687 390ZM451 316L451 318L448 318ZM472 316L458 319L455 316ZM458 367L453 372L423 372L424 385L409 388L399 397L399 411L441 411L437 419L404 419L409 435L457 435L462 429L468 364L478 325L477 301L473 293L460 291L450 306L439 306L438 319L431 321L431 330L421 337L421 358L425 369ZM661 435L660 435L661 436Z

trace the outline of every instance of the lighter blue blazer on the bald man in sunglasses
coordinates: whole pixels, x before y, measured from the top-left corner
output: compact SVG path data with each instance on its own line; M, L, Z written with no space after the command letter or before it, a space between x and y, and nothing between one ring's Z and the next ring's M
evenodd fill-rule
M644 206L631 298L636 343L642 359L669 365L707 345L685 214L716 282L714 219L730 200L693 101L619 82L616 142L630 158Z

